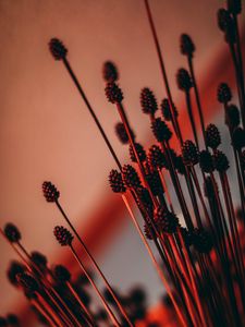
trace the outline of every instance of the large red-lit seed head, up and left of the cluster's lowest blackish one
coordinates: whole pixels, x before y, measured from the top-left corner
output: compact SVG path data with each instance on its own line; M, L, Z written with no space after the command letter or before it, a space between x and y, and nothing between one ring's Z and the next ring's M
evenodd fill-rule
M155 210L154 219L160 232L175 233L179 226L179 219L173 213L170 213L162 206L159 206Z

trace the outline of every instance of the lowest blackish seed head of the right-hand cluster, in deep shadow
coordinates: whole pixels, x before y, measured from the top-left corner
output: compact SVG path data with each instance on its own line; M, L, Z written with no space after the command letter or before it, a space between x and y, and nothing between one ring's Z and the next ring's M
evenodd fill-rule
M201 229L195 229L193 231L193 244L199 253L204 254L208 254L213 246L211 235Z

